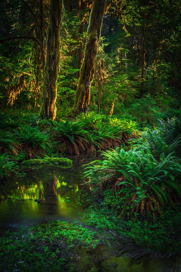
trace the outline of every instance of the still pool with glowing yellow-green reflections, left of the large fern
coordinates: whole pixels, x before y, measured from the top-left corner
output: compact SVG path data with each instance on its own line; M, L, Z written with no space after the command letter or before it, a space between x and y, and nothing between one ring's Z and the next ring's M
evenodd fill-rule
M83 168L34 170L26 176L0 186L0 232L16 230L57 219L78 219L84 207L79 203L79 184ZM42 199L38 204L34 199ZM14 229L16 228L16 229Z

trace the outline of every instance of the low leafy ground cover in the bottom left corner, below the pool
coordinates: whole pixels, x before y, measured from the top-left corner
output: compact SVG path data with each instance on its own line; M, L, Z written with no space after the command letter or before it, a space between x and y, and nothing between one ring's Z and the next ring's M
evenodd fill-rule
M75 250L95 247L95 232L68 222L49 222L37 227L6 232L0 238L0 269L21 271L72 271ZM11 260L11 262L9 262Z

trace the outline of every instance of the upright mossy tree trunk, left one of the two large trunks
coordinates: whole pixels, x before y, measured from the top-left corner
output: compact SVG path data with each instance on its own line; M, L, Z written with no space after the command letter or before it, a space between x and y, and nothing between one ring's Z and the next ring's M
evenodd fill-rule
M56 82L60 63L60 34L63 12L63 0L50 0L40 118L52 120L56 117Z

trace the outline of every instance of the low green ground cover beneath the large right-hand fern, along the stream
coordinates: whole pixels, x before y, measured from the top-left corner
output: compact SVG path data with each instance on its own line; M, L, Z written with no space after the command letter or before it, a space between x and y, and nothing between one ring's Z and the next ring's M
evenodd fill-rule
M132 220L123 221L117 217L116 211L110 211L103 203L98 209L86 209L81 217L96 228L106 228L119 236L131 238L142 248L162 253L180 252L181 214L173 209L164 210L164 218L156 216L154 222L140 221L136 214Z

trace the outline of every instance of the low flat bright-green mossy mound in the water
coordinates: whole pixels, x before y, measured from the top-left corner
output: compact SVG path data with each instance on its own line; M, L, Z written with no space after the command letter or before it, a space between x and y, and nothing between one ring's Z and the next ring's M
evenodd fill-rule
M24 160L21 163L21 166L33 168L41 168L43 166L71 168L72 160L62 157L61 158L44 157L43 159Z

